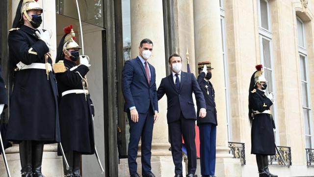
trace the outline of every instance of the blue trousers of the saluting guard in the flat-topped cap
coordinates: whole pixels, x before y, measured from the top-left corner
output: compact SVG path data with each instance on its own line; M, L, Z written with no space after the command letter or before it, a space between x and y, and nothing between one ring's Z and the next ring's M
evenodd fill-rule
M216 165L216 125L200 123L201 174L215 175Z

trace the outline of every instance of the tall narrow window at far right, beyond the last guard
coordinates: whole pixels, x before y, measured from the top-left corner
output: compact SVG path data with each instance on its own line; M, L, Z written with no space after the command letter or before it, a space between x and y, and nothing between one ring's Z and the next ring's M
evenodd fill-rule
M305 133L305 148L313 148L312 140L312 118L311 105L309 96L309 80L308 80L308 64L307 64L307 50L305 47L305 29L301 19L297 17L297 34L298 34L298 50L300 61L300 79L301 79L301 94L302 94L302 109L304 119L304 133Z

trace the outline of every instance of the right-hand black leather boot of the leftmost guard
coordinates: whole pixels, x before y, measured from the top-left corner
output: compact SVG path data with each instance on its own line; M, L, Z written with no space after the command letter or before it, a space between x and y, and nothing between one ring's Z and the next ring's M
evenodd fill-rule
M44 152L44 143L32 141L32 170L34 173L34 177L45 177L41 173L43 152Z

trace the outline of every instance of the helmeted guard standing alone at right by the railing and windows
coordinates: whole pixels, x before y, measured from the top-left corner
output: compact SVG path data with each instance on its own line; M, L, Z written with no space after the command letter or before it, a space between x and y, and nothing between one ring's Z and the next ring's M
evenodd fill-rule
M266 79L262 64L256 66L249 89L249 120L251 123L251 154L256 154L260 177L277 177L268 169L267 155L275 155L276 145L273 128L275 123L270 106L274 102L271 92L265 92Z

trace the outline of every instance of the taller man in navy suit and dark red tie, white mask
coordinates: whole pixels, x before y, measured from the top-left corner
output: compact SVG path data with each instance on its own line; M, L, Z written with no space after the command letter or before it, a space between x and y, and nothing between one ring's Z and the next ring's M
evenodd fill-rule
M122 71L122 92L125 112L130 122L128 163L131 177L140 177L137 171L137 150L141 138L141 162L143 177L155 177L151 169L151 147L153 127L157 121L158 103L156 72L148 63L152 55L153 42L143 39L136 59L125 62Z

